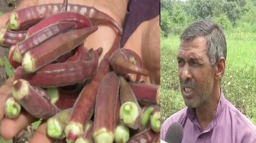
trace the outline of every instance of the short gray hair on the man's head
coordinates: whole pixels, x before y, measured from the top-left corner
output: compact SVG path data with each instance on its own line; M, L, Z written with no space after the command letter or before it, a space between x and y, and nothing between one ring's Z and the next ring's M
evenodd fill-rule
M207 55L214 66L218 59L227 57L227 43L223 30L211 20L199 20L188 26L180 40L190 40L204 36L207 41Z

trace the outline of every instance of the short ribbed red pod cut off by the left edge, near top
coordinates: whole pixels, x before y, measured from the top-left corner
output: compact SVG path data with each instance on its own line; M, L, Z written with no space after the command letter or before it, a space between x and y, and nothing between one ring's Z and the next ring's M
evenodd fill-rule
M23 41L27 31L11 31L6 28L0 29L0 45L4 48L10 48L12 45Z

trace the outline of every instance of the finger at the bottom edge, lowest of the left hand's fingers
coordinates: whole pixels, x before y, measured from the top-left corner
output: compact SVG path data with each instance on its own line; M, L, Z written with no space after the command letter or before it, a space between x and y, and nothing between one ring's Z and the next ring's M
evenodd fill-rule
M42 121L29 143L54 143L56 141L47 135L46 125L46 121Z

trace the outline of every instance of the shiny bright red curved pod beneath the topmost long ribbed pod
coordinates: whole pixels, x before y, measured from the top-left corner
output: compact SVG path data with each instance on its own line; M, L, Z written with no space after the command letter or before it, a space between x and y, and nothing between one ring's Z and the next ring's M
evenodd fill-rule
M48 18L45 18L44 20L37 23L35 26L32 26L28 29L28 35L32 35L36 33L37 31L40 31L46 26L49 26L54 23L58 22L72 22L76 23L75 29L82 29L85 27L91 27L92 23L90 20L85 17L84 15L81 15L76 12L60 12L56 13Z

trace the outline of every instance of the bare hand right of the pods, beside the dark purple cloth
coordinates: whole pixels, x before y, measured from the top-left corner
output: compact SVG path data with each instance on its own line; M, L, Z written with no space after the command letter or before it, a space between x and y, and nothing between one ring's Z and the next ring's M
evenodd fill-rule
M160 85L160 16L144 21L124 44L125 49L136 52L149 76L141 76L148 84Z

